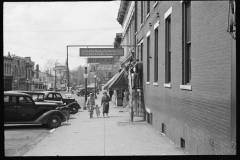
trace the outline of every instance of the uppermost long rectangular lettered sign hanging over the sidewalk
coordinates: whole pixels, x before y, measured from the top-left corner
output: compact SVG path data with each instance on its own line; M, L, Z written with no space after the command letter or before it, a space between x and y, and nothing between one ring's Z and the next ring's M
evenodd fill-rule
M123 48L80 48L80 56L124 56Z

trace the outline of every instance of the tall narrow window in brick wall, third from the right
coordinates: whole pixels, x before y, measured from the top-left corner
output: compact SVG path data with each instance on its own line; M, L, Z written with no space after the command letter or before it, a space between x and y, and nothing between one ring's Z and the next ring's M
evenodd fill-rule
M155 49L154 49L154 82L158 82L158 28L154 31Z

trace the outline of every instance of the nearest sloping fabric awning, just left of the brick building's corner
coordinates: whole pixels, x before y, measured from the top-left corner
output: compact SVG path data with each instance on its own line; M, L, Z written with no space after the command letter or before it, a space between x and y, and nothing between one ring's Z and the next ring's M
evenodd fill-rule
M117 77L114 79L114 81L109 85L109 89L127 89L128 84L125 79L125 70L123 69Z

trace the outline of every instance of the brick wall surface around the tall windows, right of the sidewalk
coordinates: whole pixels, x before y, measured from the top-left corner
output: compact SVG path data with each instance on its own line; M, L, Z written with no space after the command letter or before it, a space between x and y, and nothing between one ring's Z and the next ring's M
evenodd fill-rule
M191 2L191 86L181 90L182 83L182 3L160 1L151 16L140 28L140 3L138 3L137 40L144 38L143 74L145 106L153 113L153 127L161 131L166 125L166 135L177 145L185 140L185 150L190 154L229 154L231 146L231 36L227 33L228 1ZM146 5L145 5L146 7ZM171 88L165 88L165 20L171 13ZM145 8L146 10L146 8ZM160 17L156 17L159 12ZM154 23L159 20L158 86L154 79ZM149 22L153 25L149 26ZM146 84L147 38L150 34L150 84Z

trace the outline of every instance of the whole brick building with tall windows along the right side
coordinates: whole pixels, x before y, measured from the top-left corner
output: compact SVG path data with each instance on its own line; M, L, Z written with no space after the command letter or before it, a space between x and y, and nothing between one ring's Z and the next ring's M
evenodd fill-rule
M146 120L190 154L236 154L235 13L234 1L121 1Z

